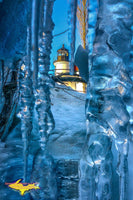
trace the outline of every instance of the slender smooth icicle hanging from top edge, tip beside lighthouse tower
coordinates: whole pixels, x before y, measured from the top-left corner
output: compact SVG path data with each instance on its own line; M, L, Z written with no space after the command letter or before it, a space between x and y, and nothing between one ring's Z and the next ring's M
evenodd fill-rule
M71 0L69 8L70 73L74 73L74 53L76 43L77 0Z

